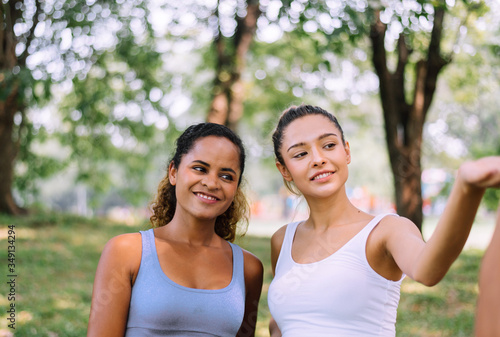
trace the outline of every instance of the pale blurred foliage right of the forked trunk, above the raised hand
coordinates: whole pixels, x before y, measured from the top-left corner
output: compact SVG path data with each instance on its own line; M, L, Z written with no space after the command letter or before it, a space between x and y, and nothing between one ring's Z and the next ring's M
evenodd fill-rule
M428 166L448 168L451 175L464 160L500 155L500 48L495 38L500 27L495 22L487 16L469 26L429 115L424 158ZM489 210L498 208L500 190L488 189L483 200Z

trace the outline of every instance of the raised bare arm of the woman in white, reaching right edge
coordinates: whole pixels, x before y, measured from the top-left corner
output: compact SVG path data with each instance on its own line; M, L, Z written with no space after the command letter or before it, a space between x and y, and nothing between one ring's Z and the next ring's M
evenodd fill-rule
M437 284L462 251L484 191L489 187L500 187L500 157L464 163L427 243L408 226L394 228L388 236L387 250L399 268L422 284Z

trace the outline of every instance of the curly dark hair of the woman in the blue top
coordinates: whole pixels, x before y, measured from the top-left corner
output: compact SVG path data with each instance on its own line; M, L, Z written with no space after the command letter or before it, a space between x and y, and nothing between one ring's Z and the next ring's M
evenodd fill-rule
M234 241L236 237L237 225L240 221L248 224L249 206L245 194L242 191L242 177L245 169L245 148L241 139L228 127L215 123L199 123L189 126L176 141L176 149L170 163L178 168L182 157L194 146L194 143L204 137L223 137L231 141L239 150L239 160L241 174L238 179L238 189L233 202L229 208L215 220L215 233L227 241ZM167 225L175 214L177 198L175 196L175 186L170 184L167 173L160 181L158 192L151 203L153 215L150 221L153 227Z

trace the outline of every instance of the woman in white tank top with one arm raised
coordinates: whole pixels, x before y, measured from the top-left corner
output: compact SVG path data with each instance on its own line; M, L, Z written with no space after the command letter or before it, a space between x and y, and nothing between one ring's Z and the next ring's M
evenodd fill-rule
M351 150L329 112L287 109L273 143L285 184L303 195L310 212L271 239L272 337L395 336L403 278L437 284L462 251L485 190L500 187L500 157L462 164L425 242L409 219L374 216L350 202Z

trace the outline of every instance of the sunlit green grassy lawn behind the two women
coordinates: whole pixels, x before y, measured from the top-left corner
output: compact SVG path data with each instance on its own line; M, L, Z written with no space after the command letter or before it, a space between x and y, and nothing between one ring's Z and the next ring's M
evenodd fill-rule
M8 226L15 226L15 301L9 301ZM145 229L68 215L0 217L0 337L85 336L92 283L105 242L118 234ZM245 236L238 244L261 258L265 284L257 336L269 336L267 289L271 281L269 239ZM437 286L411 280L402 286L398 336L473 336L477 273L483 252L466 250ZM7 325L15 303L15 330Z

